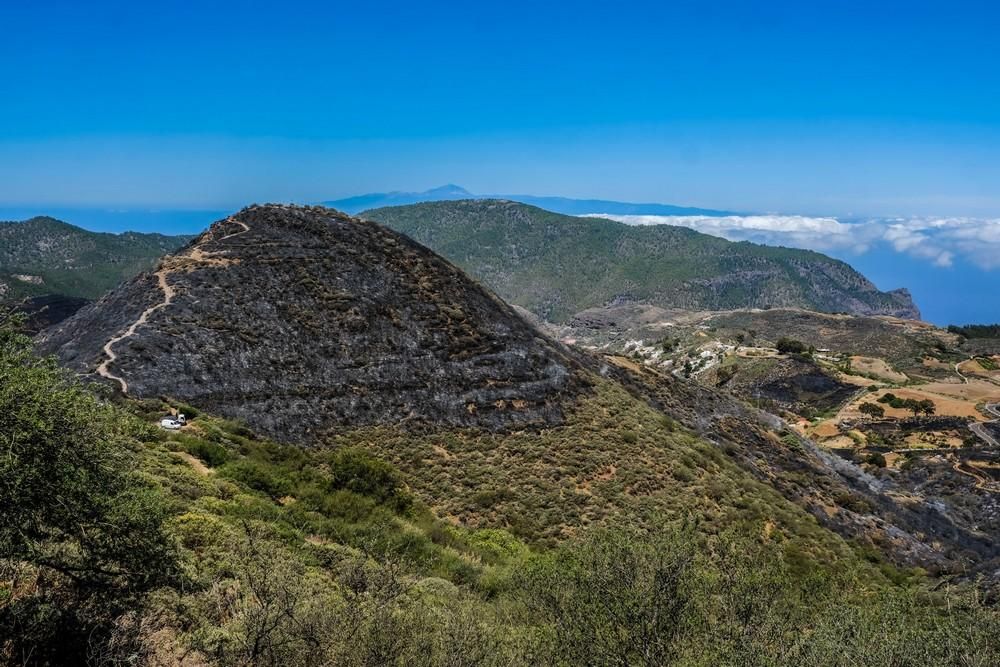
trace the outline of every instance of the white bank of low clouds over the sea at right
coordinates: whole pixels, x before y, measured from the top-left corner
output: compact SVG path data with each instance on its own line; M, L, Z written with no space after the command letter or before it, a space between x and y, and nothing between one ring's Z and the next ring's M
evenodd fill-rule
M677 225L730 241L863 254L885 245L896 252L948 267L968 262L984 270L1000 268L1000 218L871 218L838 220L802 215L611 215L591 213L628 225Z

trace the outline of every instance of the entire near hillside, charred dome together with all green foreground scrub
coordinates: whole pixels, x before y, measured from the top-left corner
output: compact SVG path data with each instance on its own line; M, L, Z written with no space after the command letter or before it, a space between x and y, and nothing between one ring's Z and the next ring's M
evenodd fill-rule
M996 655L988 535L373 222L248 207L36 340L102 398L8 340L11 661Z

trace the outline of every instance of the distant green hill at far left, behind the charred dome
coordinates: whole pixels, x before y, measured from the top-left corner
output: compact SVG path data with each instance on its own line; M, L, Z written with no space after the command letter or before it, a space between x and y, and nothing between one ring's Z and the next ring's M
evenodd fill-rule
M0 222L0 300L43 294L96 299L190 238L102 234L44 217Z

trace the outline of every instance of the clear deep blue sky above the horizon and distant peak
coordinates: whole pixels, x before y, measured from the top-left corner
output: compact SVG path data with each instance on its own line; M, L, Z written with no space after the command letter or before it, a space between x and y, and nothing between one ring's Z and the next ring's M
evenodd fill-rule
M456 182L1000 218L998 24L960 1L7 2L0 208Z

